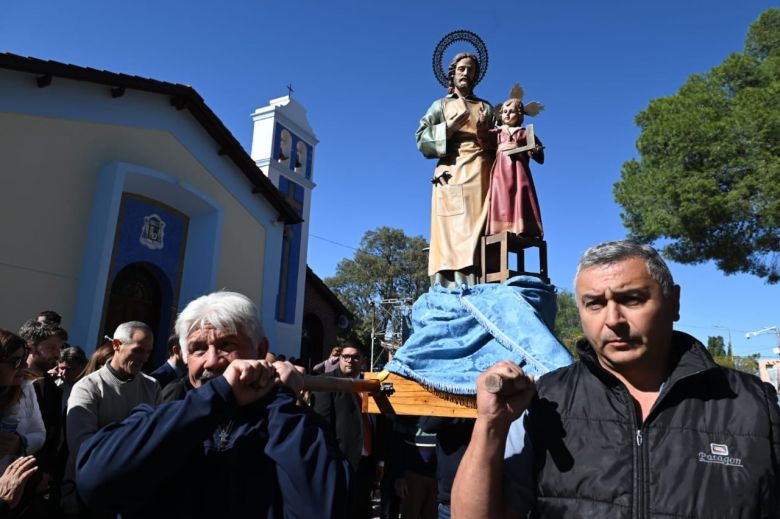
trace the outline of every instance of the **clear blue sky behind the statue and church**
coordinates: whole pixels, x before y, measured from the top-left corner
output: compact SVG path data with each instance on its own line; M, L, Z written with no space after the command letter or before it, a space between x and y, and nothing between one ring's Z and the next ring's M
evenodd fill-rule
M546 5L545 5L546 4ZM634 116L692 73L739 52L772 2L0 0L0 50L193 86L249 149L250 114L293 96L320 143L314 155L309 264L321 277L366 230L429 232L434 162L414 145L431 101L439 39L478 33L490 63L477 94L504 100L515 81L546 110L532 121L546 163L533 170L553 283L571 289L579 254L625 236L612 186L636 155ZM468 50L454 46L451 53ZM447 56L451 56L448 54ZM324 239L322 239L324 238ZM327 241L329 240L329 241ZM331 241L346 245L340 246ZM671 265L678 329L731 332L736 353L772 356L780 286L710 264Z

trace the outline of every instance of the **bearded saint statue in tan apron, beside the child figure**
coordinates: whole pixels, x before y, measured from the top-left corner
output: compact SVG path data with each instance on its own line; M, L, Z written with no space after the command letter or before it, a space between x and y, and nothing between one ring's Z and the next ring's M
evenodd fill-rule
M490 103L474 96L479 61L455 56L447 73L448 94L420 120L417 148L439 161L433 174L428 275L444 286L479 279L478 245L485 230L493 152L480 145L491 126Z

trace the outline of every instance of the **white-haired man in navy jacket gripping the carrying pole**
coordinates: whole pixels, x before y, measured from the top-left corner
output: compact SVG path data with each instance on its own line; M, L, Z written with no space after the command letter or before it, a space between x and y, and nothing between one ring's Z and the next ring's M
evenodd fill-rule
M77 485L131 517L345 517L349 466L327 425L296 405L302 376L268 349L255 305L215 292L176 321L193 389L93 436Z

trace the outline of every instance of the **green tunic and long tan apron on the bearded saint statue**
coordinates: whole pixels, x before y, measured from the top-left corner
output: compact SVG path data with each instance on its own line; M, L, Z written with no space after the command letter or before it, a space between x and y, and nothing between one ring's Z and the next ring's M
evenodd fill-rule
M470 116L466 124L447 139L445 114L456 113L463 99L450 94L434 101L417 129L417 148L427 158L438 158L431 197L431 244L428 275L474 266L479 238L488 209L491 151L477 139L480 111L491 112L487 101L465 98Z

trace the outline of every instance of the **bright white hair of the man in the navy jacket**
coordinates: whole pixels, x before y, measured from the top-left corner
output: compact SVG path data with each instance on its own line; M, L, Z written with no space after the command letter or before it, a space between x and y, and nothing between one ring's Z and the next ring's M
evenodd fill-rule
M189 354L187 337L206 326L213 326L222 333L246 335L255 355L265 338L257 307L245 295L238 292L213 292L200 296L190 301L176 319L176 335L179 336L181 356L185 363Z

